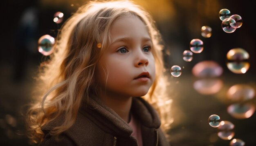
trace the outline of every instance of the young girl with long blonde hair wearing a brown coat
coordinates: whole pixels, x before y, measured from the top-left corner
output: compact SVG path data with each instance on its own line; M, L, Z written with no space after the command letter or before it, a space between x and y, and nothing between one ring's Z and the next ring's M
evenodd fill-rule
M164 92L162 45L148 13L128 1L89 2L65 22L54 47L38 77L41 98L27 113L33 142L168 145L149 104L168 117L161 107L170 102L156 92Z

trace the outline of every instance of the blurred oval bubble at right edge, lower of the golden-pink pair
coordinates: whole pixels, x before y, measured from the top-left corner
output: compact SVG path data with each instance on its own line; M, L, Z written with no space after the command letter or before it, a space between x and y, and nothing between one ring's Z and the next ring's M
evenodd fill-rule
M255 112L254 104L231 104L227 107L227 112L236 119L246 119Z

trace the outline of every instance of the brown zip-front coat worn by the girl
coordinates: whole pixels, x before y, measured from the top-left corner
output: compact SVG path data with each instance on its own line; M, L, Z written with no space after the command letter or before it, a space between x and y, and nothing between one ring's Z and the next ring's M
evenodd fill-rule
M156 111L141 97L133 97L131 112L141 123L144 146L168 146ZM83 105L75 124L60 136L57 142L49 130L61 123L61 118L42 128L45 139L40 146L137 146L130 136L132 128L111 108L99 99L89 100L88 108Z

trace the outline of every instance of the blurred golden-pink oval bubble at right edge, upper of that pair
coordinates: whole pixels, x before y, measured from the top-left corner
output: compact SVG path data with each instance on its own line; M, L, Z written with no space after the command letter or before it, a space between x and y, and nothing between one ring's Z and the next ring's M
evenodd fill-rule
M236 84L227 91L227 98L236 102L251 100L254 96L254 88L246 84Z

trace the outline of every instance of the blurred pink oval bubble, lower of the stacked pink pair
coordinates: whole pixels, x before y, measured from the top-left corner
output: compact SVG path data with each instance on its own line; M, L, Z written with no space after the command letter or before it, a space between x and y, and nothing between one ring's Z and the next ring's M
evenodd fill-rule
M218 93L223 86L220 79L202 79L193 83L193 87L202 95L212 95Z

